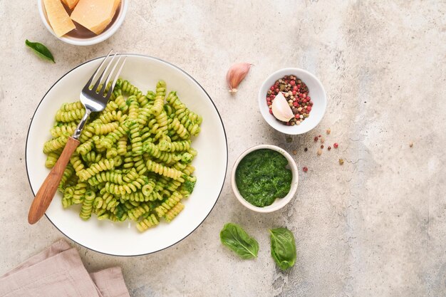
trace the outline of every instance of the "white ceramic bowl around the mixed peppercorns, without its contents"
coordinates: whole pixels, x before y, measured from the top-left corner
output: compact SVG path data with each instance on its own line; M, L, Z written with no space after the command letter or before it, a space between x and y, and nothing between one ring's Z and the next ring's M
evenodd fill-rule
M279 122L279 120L276 120L276 118L274 118L274 115L271 115L271 113L269 113L269 108L266 104L266 93L268 92L269 88L271 87L271 85L274 85L276 80L283 78L285 75L294 75L302 80L304 83L306 83L309 90L308 95L313 101L313 107L311 108L310 116L306 118L300 125L287 126ZM265 119L266 123L268 123L277 131L289 135L303 134L313 129L313 127L316 127L323 118L326 110L326 105L326 93L323 89L321 81L319 81L318 78L316 78L316 76L314 76L313 74L300 68L283 68L279 71L274 72L273 74L269 75L268 78L266 78L259 90L260 113Z

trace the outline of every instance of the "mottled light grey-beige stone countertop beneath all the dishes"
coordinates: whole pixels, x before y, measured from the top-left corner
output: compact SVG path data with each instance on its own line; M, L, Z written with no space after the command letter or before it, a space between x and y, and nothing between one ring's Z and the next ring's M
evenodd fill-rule
M0 1L0 275L63 238L47 219L26 222L33 112L61 75L113 47L170 61L202 84L222 115L229 169L209 217L170 249L125 258L70 241L88 271L122 267L135 297L445 296L445 12L445 1L130 1L112 38L78 47L48 33L36 1ZM51 48L56 64L26 38ZM240 61L254 67L232 97L225 75ZM320 125L289 139L256 103L264 78L284 67L314 73L328 96ZM318 156L313 137L328 127L326 143L339 148ZM239 154L263 143L296 150L308 167L294 200L273 214L244 209L229 180ZM226 222L258 239L258 259L220 244ZM296 236L298 259L285 272L269 254L266 230L276 226Z

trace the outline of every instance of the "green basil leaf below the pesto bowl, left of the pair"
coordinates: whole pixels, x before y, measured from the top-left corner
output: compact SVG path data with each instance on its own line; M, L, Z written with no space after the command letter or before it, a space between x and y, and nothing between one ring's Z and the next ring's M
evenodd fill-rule
M242 259L252 259L257 256L259 243L247 234L244 229L233 223L224 225L220 231L222 244L232 249Z

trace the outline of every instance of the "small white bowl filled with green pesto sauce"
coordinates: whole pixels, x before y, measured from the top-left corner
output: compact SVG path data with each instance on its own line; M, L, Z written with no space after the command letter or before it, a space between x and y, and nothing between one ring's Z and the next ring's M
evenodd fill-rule
M231 184L244 207L254 212L275 212L296 194L299 171L293 157L281 147L256 145L235 161Z

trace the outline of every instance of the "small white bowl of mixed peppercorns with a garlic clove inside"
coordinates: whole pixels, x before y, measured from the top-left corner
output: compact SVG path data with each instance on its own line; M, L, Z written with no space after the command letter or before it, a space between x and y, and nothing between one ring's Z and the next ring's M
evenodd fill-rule
M272 73L259 90L259 108L266 123L289 135L303 134L316 127L326 105L321 81L300 68L283 68Z

